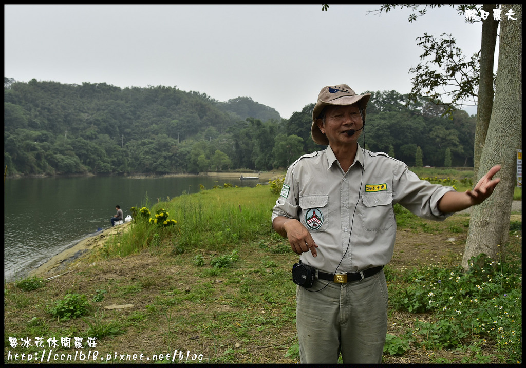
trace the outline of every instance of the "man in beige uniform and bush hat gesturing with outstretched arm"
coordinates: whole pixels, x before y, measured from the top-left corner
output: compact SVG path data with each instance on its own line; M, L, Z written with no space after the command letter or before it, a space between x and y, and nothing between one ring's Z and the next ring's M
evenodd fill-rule
M340 352L343 363L381 363L388 302L382 268L395 246L395 203L444 220L481 203L500 181L495 166L459 193L361 148L370 96L345 84L321 89L311 134L328 147L292 163L272 213L272 227L301 255L293 279L302 363L337 363Z

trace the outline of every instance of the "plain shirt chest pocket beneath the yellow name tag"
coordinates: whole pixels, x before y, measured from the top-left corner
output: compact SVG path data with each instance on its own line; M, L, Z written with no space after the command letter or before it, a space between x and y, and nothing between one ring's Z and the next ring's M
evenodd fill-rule
M392 193L362 193L361 197L363 229L387 230L395 224Z

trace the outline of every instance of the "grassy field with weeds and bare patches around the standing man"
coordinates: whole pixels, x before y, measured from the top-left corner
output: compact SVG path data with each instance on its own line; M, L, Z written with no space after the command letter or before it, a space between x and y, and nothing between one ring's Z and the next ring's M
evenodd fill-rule
M296 363L297 255L271 230L278 187L145 198L127 231L66 273L6 283L4 362ZM464 274L469 214L430 222L396 210L383 361L520 363L521 217L502 261Z

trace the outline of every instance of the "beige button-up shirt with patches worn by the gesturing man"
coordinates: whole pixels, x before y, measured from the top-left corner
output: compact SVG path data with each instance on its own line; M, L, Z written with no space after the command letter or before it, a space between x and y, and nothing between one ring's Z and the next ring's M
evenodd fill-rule
M357 272L391 260L395 203L422 218L444 220L451 214L441 213L438 201L453 190L420 180L402 161L361 147L343 172L328 146L288 168L272 221L295 218L309 230L318 255L305 252L302 263L328 273Z

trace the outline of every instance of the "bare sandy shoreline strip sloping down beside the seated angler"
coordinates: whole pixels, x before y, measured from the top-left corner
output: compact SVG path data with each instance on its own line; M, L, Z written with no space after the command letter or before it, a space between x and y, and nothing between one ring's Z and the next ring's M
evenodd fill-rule
M110 236L123 233L129 230L131 222L124 222L107 229L100 230L79 242L75 243L46 262L39 265L37 268L29 270L29 277L53 278L59 274L67 272L73 263L84 257L87 253L92 252L95 248L103 246Z

